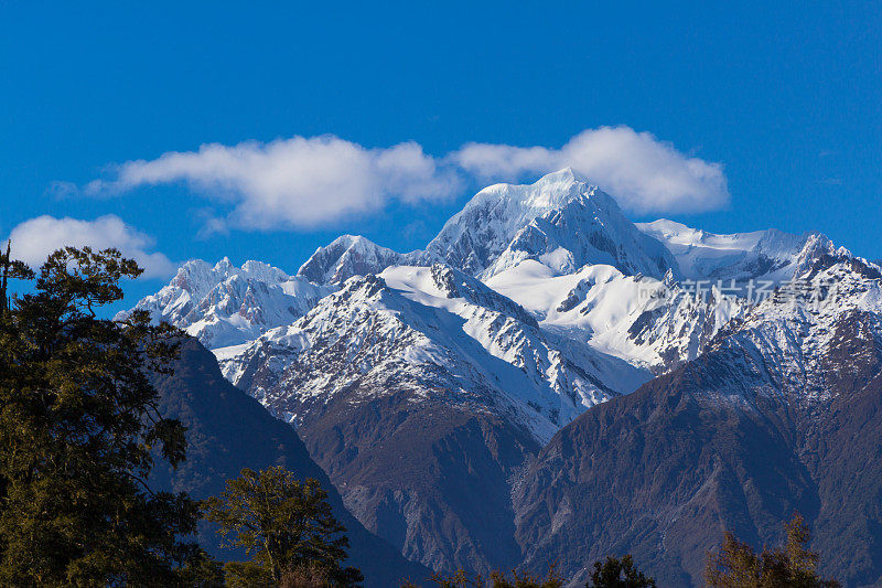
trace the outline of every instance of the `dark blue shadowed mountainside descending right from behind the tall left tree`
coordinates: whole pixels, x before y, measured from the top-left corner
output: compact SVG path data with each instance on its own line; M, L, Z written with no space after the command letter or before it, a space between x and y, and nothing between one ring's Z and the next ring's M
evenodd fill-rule
M391 545L369 533L343 506L327 475L310 458L293 427L273 418L257 400L224 379L215 357L187 339L174 374L158 378L163 415L181 419L187 430L187 458L173 471L158 467L152 487L186 491L196 499L219 493L243 468L282 466L301 478L315 478L327 491L334 515L347 530L349 565L362 569L366 586L396 586L401 578L423 579L430 571L406 560ZM222 549L219 537L203 525L200 543L213 555L239 558Z

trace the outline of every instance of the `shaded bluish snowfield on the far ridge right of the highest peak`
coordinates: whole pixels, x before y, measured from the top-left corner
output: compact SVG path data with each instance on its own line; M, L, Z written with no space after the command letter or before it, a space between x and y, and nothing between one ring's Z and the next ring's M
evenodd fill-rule
M824 235L793 235L771 228L753 233L716 235L673 221L639 223L637 228L667 245L690 279L781 282L800 272L832 244Z

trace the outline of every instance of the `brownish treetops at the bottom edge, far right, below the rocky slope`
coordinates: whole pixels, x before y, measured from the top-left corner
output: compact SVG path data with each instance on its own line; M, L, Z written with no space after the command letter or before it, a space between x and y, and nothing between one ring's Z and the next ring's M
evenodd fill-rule
M836 580L818 576L818 554L807 548L811 534L798 513L784 524L787 541L784 547L753 548L725 532L723 543L709 552L704 580L712 588L835 588Z

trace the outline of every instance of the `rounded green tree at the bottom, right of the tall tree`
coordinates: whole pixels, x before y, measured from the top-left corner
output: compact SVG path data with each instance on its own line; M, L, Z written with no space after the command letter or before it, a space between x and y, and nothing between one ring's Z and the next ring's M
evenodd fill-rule
M281 467L241 470L219 496L205 501L225 545L245 547L250 562L227 564L230 586L280 584L286 575L324 575L334 586L355 586L361 571L343 567L348 539L316 480L303 482Z

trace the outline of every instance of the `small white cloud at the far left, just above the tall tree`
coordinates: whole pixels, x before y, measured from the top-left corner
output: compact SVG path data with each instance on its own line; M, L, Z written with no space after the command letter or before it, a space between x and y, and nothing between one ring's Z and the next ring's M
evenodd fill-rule
M116 215L99 216L95 221L37 216L18 225L10 233L13 257L31 267L40 267L46 257L65 246L105 249L116 247L122 255L144 268L144 277L162 278L174 272L174 265L161 253L148 253L153 239L127 225ZM3 239L6 244L6 239Z

